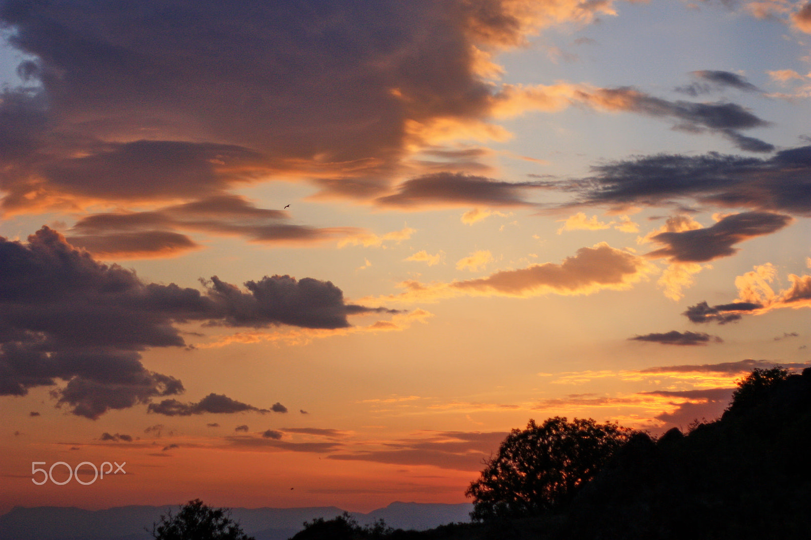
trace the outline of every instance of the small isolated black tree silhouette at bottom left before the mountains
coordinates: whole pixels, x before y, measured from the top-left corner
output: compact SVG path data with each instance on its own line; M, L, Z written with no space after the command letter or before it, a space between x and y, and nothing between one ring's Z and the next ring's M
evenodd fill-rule
M174 515L167 512L149 532L156 540L255 540L231 520L228 508L211 508L200 499L190 500Z

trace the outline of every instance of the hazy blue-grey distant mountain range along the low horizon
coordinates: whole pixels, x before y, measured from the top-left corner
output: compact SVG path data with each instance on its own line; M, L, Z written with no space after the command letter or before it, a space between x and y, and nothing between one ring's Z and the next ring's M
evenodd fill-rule
M350 512L360 525L384 520L394 529L426 530L452 522L470 521L473 504L392 503L367 514ZM178 506L122 506L83 510L41 506L15 507L0 516L0 540L151 540L161 514ZM303 529L304 521L332 519L344 511L334 506L314 508L232 508L238 521L256 540L287 540Z

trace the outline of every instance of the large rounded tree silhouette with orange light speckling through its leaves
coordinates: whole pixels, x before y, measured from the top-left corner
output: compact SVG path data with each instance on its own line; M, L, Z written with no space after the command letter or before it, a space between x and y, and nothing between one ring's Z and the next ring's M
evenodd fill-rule
M537 515L569 502L577 486L598 473L633 434L591 418L549 418L514 429L465 495L477 521Z

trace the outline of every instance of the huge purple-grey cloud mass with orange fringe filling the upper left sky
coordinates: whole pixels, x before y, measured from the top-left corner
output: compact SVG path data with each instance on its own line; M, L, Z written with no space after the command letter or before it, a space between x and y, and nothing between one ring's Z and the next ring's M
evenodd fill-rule
M379 195L420 142L409 126L487 116L474 50L537 22L500 0L6 0L0 24L41 90L2 100L4 204L197 197L290 171Z

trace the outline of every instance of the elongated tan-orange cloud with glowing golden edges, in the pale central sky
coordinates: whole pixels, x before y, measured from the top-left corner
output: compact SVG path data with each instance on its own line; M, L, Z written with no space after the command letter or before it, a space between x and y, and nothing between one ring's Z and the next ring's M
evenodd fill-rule
M517 270L501 270L490 276L450 283L423 285L405 281L405 292L388 300L418 301L455 296L511 296L526 298L542 294L593 294L603 289L629 289L653 268L636 255L620 251L605 242L581 247L577 255L561 264L532 264Z

